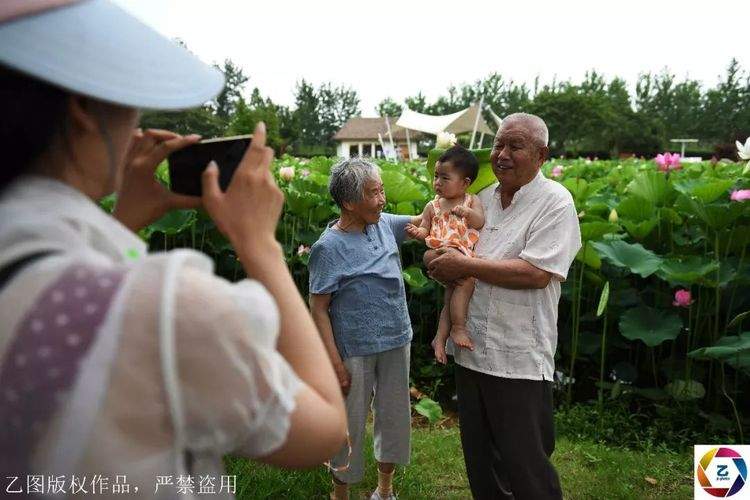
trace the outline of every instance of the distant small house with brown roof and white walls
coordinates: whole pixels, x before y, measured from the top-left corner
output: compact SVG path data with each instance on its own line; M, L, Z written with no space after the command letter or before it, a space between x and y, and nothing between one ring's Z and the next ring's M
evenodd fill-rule
M391 135L393 136L393 145L400 152L403 158L409 157L409 149L406 140L406 130L396 125L397 118L389 117L388 122L391 125ZM336 154L341 158L351 156L371 156L378 158L383 156L383 148L378 139L378 134L383 138L383 144L386 148L390 147L391 141L388 137L388 127L385 125L385 118L362 118L355 117L336 132L333 140L337 142ZM424 134L414 130L409 132L409 141L411 143L411 157L417 157L417 141L422 139Z

